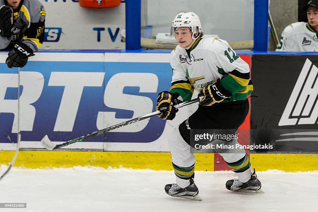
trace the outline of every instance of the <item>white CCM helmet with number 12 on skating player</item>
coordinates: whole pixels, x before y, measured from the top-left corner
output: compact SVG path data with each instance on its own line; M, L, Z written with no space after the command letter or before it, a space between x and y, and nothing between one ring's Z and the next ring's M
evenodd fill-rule
M194 12L179 13L172 22L171 35L174 35L176 28L190 27L193 34L201 33L201 22Z

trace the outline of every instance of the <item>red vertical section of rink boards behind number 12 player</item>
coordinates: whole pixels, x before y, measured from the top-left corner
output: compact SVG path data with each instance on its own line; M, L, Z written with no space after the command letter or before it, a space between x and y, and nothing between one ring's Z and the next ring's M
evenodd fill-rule
M239 55L249 66L251 70L251 55ZM250 108L251 103L249 101ZM248 112L244 123L239 127L239 143L242 145L249 145L250 143L250 134L248 130L240 130L240 129L250 129L250 111ZM247 154L249 153L249 149L245 149ZM226 162L223 160L223 157L218 153L214 153L214 171L223 171L223 170L231 170Z

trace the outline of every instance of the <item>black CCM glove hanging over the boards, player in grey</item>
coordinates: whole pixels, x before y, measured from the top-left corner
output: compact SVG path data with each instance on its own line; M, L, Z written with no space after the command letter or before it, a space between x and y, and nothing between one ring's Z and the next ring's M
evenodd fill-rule
M5 63L9 68L20 67L22 68L28 62L28 58L33 56L33 50L22 42L14 45L13 49L9 52L8 58Z

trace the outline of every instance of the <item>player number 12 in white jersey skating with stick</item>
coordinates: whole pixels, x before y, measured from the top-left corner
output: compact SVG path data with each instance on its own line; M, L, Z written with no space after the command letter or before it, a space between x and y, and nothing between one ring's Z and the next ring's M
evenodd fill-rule
M178 111L173 105L191 99L194 89L203 97L195 113L171 133L168 144L176 183L165 186L168 195L201 200L194 183L194 143L191 129L238 129L249 111L246 99L252 92L249 65L230 45L219 38L202 38L199 17L179 13L172 23L171 33L179 45L170 54L173 76L170 91L160 92L158 116L172 120ZM221 140L214 142L225 143ZM231 145L240 145L236 139ZM238 179L226 182L231 191L259 190L261 183L252 171L244 148L219 153Z

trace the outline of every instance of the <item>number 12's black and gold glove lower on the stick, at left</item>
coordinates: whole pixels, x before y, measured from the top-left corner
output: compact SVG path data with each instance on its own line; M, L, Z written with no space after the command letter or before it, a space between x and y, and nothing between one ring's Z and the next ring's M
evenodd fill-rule
M169 91L163 91L158 94L156 111L161 113L158 115L163 120L173 120L176 117L176 113L179 111L174 105L183 102L179 94L170 93Z

